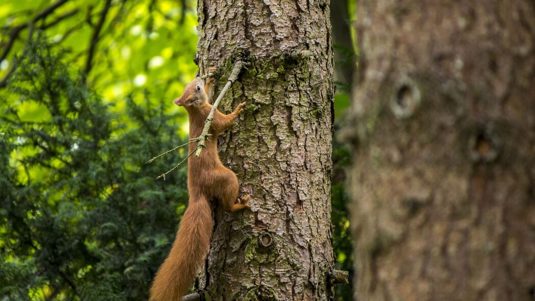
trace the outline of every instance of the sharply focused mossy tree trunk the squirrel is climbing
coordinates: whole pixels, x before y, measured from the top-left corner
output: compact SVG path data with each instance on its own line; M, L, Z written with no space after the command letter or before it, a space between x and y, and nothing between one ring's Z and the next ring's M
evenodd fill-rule
M326 300L333 266L333 60L328 1L204 0L197 63L250 65L221 103L247 107L219 139L252 211L216 209L205 275L215 300ZM216 91L217 95L217 91Z

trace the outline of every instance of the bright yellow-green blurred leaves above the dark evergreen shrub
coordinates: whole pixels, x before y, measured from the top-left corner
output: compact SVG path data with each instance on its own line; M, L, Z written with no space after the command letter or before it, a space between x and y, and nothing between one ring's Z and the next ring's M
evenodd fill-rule
M17 26L28 24L58 0L3 0L0 3L0 55ZM185 6L182 5L185 4ZM169 102L197 71L197 16L195 0L111 1L96 40L87 82L113 108L125 109L125 96L150 88L151 99ZM70 0L34 24L54 46L69 49L68 62L86 69L90 44L105 1ZM0 62L0 79L20 56L28 37L28 26L17 34L9 56ZM1 104L0 104L1 106ZM171 108L171 102L166 107Z

